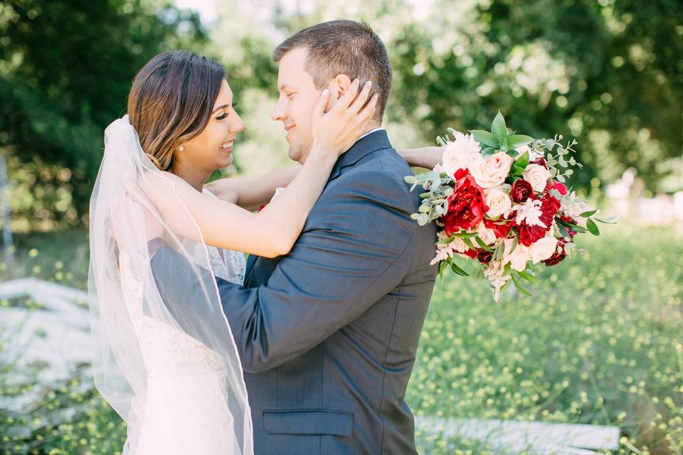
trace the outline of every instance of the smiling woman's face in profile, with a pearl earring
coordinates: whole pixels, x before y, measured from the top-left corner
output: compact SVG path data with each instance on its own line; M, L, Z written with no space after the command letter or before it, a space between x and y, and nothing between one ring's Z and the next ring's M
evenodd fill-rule
M184 149L176 154L176 160L201 171L213 172L230 166L233 141L243 129L244 122L233 107L233 91L223 80L206 128L183 144Z

